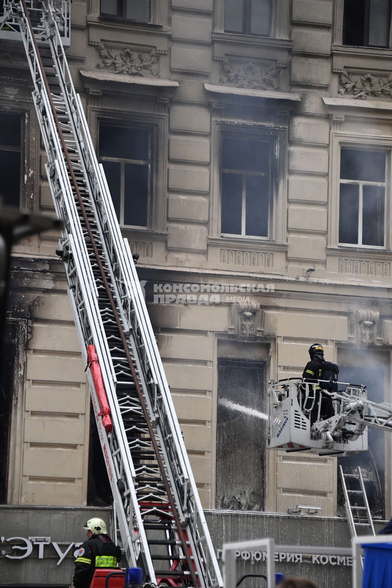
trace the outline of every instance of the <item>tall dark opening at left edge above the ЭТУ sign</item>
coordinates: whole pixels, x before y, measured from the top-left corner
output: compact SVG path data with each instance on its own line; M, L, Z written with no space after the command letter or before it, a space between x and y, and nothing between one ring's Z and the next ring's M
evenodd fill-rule
M6 323L0 366L0 504L7 503L12 403L17 385L17 326Z

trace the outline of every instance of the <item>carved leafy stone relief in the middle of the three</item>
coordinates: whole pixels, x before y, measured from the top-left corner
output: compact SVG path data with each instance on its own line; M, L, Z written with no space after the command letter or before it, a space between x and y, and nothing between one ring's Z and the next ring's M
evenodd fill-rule
M234 88L253 90L279 90L279 69L274 65L263 66L253 61L246 63L225 59L222 64L220 83L227 83Z

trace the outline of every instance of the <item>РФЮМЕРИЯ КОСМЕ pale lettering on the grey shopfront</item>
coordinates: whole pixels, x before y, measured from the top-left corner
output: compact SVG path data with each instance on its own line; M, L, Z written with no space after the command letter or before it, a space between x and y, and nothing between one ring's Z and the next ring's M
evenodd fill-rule
M217 559L222 559L222 549L216 550ZM250 562L254 564L256 562L265 562L267 560L266 552L254 552L254 551L237 551L236 559L242 559L244 562ZM307 563L313 565L326 566L349 566L353 565L353 557L351 556L340 556L340 555L318 555L310 553L293 553L293 552L276 552L274 554L274 560L276 562L286 563Z

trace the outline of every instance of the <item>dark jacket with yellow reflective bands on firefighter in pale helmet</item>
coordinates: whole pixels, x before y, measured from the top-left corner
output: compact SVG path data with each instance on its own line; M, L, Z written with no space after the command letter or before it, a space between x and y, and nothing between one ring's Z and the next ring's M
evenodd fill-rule
M120 548L106 534L93 535L85 541L75 560L75 588L89 588L97 567L117 567L121 559Z

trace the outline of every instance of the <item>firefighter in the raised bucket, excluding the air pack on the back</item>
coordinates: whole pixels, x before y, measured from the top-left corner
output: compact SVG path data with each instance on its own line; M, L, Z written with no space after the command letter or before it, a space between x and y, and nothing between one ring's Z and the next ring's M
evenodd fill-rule
M309 383L309 399L307 404L310 406L313 398L313 390L316 390L316 400L310 413L311 424L317 420L317 413L319 412L319 392L322 389L322 384L318 383L317 380L322 379L324 360L324 349L319 343L314 343L309 349L310 362L307 362L302 379ZM313 384L313 386L312 386ZM321 408L320 408L320 419L327 419L335 414L331 397L321 392Z

